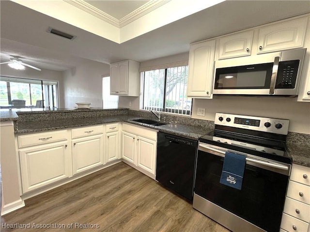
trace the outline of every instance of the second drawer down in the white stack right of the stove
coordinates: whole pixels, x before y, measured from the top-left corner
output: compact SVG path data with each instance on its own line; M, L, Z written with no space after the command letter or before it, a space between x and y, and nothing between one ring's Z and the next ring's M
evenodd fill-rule
M299 184L290 180L286 196L297 201L310 204L310 186Z

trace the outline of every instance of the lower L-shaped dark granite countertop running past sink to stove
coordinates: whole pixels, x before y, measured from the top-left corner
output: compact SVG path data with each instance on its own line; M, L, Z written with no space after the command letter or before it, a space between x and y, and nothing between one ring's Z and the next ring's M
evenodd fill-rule
M138 126L154 129L157 131L186 137L189 139L198 140L204 134L209 133L213 129L202 128L179 123L168 123L162 126L153 126L145 123L131 121L129 119L139 118L137 116L104 116L104 117L88 117L88 118L74 118L61 120L38 120L38 121L22 121L18 122L18 131L16 134L42 132L51 130L60 130L75 127L92 126L98 124L106 124L113 122L126 122Z

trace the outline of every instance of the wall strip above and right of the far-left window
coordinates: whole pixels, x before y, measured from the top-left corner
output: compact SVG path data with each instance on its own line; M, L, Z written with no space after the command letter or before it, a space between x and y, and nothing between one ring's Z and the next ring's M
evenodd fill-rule
M16 70L10 68L8 65L1 65L0 69L1 76L9 76L9 77L20 77L20 78L29 78L36 80L48 80L48 81L58 81L59 82L59 104L60 107L64 106L64 89L62 83L62 72L42 69L42 71L34 70L31 68L26 68L25 70Z

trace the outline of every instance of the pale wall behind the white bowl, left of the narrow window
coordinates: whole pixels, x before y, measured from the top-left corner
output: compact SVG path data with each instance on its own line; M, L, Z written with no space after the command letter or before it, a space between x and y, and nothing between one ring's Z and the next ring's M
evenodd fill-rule
M73 108L75 102L92 102L102 107L102 76L109 76L110 66L96 61L63 72L64 107Z

